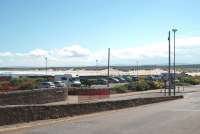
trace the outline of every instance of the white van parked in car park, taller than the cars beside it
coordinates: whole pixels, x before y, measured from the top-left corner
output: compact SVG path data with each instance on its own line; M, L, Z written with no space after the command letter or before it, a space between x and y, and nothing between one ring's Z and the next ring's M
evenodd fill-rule
M79 76L72 77L71 74L55 75L54 81L62 81L68 87L80 87L81 86Z

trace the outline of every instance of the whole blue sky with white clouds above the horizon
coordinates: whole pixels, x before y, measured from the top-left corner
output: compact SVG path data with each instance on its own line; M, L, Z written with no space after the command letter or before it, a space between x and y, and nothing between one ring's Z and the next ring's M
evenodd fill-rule
M199 0L0 0L0 66L199 64ZM171 44L173 45L173 33ZM173 53L173 50L172 50ZM96 63L96 60L98 61Z

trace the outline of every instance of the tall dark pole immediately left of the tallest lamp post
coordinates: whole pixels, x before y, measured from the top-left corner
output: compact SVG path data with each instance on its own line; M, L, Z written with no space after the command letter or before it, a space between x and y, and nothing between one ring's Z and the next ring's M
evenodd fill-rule
M169 96L171 96L171 46L170 46L170 31L169 31L169 37L168 37L168 41L169 41L169 66L168 66L168 82L169 82Z

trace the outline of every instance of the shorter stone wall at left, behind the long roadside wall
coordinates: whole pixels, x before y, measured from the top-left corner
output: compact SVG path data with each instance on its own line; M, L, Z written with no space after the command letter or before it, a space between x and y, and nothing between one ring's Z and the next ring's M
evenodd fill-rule
M67 97L65 89L35 89L0 93L0 105L44 104L63 101Z

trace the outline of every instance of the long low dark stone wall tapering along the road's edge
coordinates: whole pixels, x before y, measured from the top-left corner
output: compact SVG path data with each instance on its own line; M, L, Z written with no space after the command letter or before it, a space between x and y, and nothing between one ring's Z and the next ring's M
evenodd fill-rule
M0 125L89 114L180 98L183 98L183 96L138 98L70 105L5 106L0 107Z

